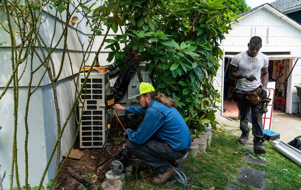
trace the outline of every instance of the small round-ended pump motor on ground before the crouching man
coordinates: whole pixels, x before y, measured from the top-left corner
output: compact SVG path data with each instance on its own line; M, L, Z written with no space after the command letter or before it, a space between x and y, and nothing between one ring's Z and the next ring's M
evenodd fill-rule
M124 169L131 165L131 153L128 150L123 150L119 155L115 156L110 164L111 170L114 173L125 173Z

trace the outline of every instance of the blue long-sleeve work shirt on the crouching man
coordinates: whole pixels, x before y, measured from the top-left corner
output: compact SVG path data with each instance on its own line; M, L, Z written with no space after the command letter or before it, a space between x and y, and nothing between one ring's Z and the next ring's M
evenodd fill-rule
M150 137L167 142L172 150L188 151L191 145L191 137L188 127L176 108L150 100L147 109L140 106L125 108L125 113L143 115L144 119L136 131L126 129L129 140L136 144L143 144Z

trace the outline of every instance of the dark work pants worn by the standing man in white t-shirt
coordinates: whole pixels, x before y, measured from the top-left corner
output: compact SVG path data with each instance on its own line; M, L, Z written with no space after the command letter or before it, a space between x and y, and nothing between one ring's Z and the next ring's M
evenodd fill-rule
M252 135L254 135L254 140L258 142L263 139L263 127L262 127L262 112L264 103L259 103L257 105L249 106L247 99L237 100L237 107L240 111L240 130L245 133L249 132L248 128L248 117L252 116ZM250 110L251 108L251 110Z

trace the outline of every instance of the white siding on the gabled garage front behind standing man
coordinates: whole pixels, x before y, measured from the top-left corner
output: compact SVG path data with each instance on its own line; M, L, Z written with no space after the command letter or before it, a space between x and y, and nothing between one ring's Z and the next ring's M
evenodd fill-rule
M224 52L242 52L248 49L247 44L251 37L258 35L262 38L261 52L290 52L292 55L301 55L301 30L265 7L269 8L268 5L264 5L239 18L238 25L232 24L233 30L230 30L229 34L225 34L220 48L224 49ZM292 62L290 60L290 69L293 66ZM300 68L301 61L299 60L288 79L288 93L292 96L288 97L288 101L291 102L287 102L287 105L291 106L288 107L287 113L298 113L299 100L294 85L300 84ZM223 69L224 67L221 66L219 70Z

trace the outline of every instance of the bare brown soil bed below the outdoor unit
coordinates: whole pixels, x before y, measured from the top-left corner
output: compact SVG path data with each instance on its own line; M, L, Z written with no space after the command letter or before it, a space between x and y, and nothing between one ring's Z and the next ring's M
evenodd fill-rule
M120 117L119 119L125 129L130 128L136 130L139 124L142 122L143 117L141 115L137 115L137 116L132 116L131 119L126 119L125 117ZM124 129L121 127L119 123L117 123L116 126L116 117L112 119L110 133L114 134L114 136L117 137L123 137ZM103 161L105 161L106 159L108 159L109 157L117 153L117 151L114 151L114 148L118 142L119 140L114 140L109 135L107 143L110 143L110 145L107 145L103 149L103 152L101 153L97 165L99 165L100 163L102 163ZM78 138L73 149L82 151L84 155L79 160L67 158L67 161L65 162L57 178L57 184L58 184L57 189L61 190L64 188L64 190L73 190L73 189L82 190L83 188L85 188L80 182L78 182L76 179L71 177L71 175L68 172L68 168L71 168L79 176L82 176L87 182L93 183L96 187L100 188L101 183L103 181L103 177L101 174L105 174L106 171L104 170L109 169L108 166L110 164L110 161L112 161L114 158L106 162L103 166L101 166L96 170L94 169L94 165L101 148L80 149L80 141ZM62 154L65 154L65 152L62 152Z

